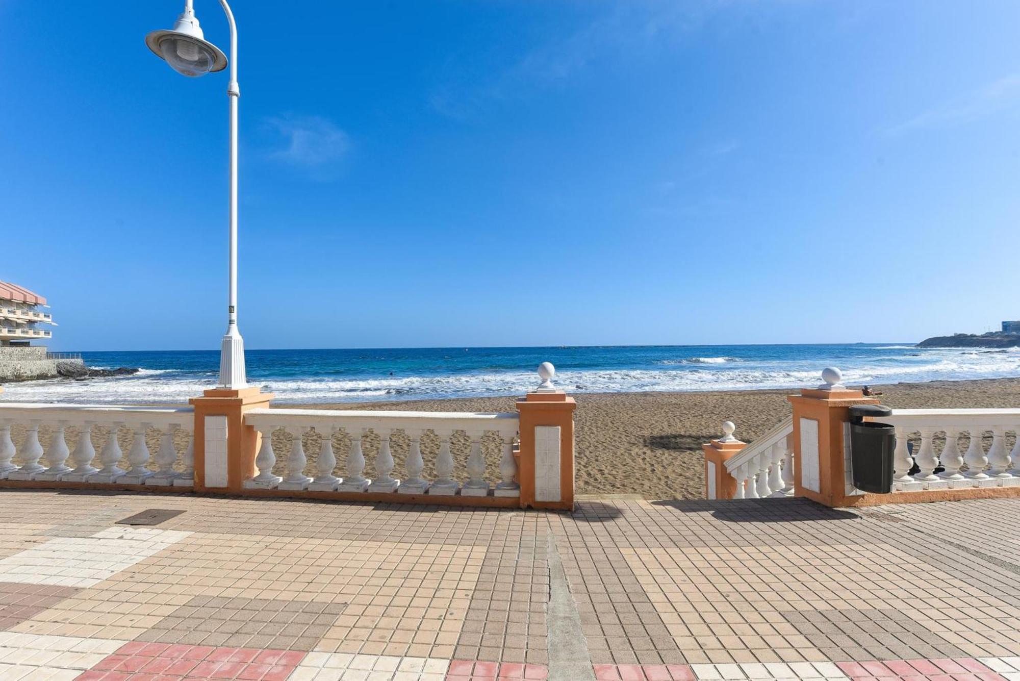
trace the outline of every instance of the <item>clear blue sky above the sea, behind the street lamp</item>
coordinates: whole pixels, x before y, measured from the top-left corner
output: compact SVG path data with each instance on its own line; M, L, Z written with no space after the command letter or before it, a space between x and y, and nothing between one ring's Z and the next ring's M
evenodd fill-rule
M249 348L910 340L1020 318L1020 4L237 0ZM195 0L227 46L215 0ZM0 279L215 349L183 0L0 0Z

